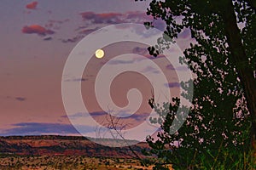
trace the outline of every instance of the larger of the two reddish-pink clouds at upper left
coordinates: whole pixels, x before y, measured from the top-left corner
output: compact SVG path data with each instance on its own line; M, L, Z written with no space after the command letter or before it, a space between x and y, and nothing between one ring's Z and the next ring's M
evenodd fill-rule
M24 26L22 28L22 32L25 34L38 34L38 36L46 36L55 33L55 31L46 29L43 26L39 25Z

